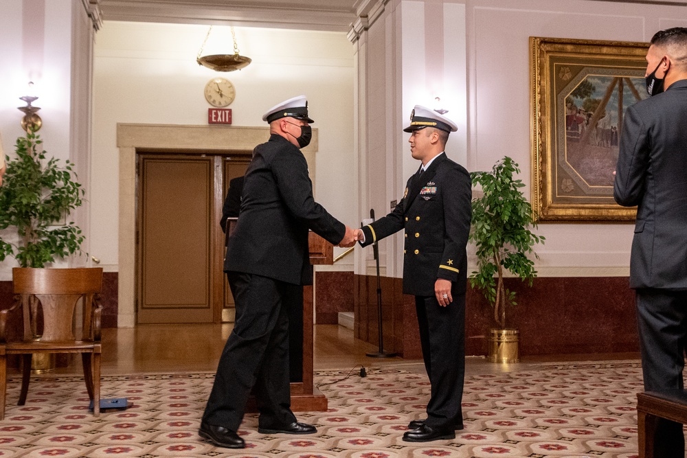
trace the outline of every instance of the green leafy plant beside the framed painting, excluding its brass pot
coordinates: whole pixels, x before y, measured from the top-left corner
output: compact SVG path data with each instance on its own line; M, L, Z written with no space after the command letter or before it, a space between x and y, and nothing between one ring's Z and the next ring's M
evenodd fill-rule
M515 291L504 286L504 270L532 286L537 277L534 262L538 257L532 247L543 243L541 236L530 231L537 227L532 219L532 207L521 192L517 163L506 156L491 172L472 172L473 185L481 185L482 197L472 201L472 231L470 240L477 247L477 268L470 284L484 295L494 308L494 319L506 328L506 306L515 306Z

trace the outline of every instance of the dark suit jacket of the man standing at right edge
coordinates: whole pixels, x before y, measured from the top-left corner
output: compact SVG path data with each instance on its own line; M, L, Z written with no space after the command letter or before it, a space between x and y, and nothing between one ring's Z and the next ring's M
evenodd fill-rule
M631 288L687 290L687 80L627 108L613 197L638 205Z

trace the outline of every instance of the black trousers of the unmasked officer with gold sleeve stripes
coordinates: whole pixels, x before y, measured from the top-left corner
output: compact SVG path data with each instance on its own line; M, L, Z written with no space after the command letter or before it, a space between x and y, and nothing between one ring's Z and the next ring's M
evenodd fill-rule
M426 424L450 429L462 422L465 378L465 295L454 295L446 307L434 296L416 296L425 369L431 384Z

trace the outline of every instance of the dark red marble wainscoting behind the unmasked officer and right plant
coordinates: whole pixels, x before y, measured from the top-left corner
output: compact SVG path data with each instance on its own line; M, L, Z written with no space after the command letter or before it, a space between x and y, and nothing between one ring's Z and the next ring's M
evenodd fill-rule
M530 288L506 279L517 292L507 325L520 331L520 355L638 352L634 292L627 277L539 277ZM382 278L385 351L420 358L414 297L401 279ZM377 343L376 277L354 277L354 335ZM466 293L466 355L485 355L493 308L480 293Z

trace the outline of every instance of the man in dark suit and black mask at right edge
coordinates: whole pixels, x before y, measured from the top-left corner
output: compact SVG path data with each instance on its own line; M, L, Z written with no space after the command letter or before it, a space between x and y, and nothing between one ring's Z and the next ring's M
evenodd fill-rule
M630 260L644 389L683 389L687 345L687 27L646 53L650 98L627 108L613 197L638 205ZM661 420L654 456L684 457L682 425ZM661 437L659 437L661 435Z

